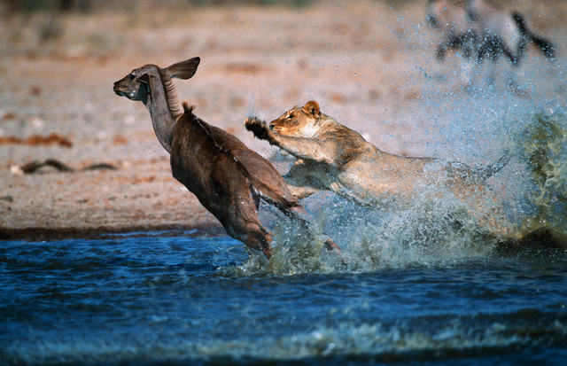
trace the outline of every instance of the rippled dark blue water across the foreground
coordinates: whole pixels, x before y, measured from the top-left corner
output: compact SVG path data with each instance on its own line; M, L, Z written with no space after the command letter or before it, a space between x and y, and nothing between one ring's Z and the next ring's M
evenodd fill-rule
M231 238L3 242L0 364L562 364L567 252L463 252L291 270Z

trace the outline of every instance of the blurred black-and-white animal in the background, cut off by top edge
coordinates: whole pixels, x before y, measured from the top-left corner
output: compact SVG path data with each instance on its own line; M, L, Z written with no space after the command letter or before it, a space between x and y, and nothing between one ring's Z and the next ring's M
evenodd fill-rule
M505 58L512 66L507 83L516 93L524 94L516 81L516 70L528 45L533 44L546 58L555 58L555 46L546 38L535 35L519 12L503 12L486 0L429 0L427 21L441 35L436 57L442 61L449 50L462 54L461 82L471 90L476 68L490 61L487 78L495 79L495 65Z

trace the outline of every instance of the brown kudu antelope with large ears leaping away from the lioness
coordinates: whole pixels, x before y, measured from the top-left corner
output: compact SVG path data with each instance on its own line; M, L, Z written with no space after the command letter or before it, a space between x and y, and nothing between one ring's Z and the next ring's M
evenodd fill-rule
M177 98L173 78L187 80L200 58L161 68L145 65L114 82L114 92L144 103L159 143L169 152L172 173L214 214L229 236L269 259L272 239L260 223L260 199L309 225L309 214L271 163L236 136L199 119ZM338 246L327 240L328 250Z

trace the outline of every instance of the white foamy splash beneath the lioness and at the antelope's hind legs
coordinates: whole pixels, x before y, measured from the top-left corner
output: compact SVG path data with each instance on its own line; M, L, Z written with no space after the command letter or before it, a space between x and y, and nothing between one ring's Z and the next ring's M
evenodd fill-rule
M359 206L331 199L316 216L319 233L280 220L272 230L275 254L266 261L260 254L236 268L229 276L349 272L411 266L451 265L478 260L492 253L500 242L470 214L459 199L431 199L423 193L412 206L392 210ZM341 253L324 246L324 231Z

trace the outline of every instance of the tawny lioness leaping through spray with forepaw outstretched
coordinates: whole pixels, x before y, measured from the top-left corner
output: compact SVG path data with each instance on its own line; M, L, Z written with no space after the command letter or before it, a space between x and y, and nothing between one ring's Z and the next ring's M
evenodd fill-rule
M439 197L446 190L459 199L483 206L477 210L482 216L479 222L508 236L508 230L494 222L501 220L498 200L485 184L488 177L509 162L508 154L493 165L472 169L455 161L383 152L358 132L321 113L313 100L291 108L269 126L250 117L245 128L298 158L284 176L298 199L329 190L361 205L377 206L392 200L411 202L425 190L434 191L434 197ZM484 207L486 202L490 209Z

